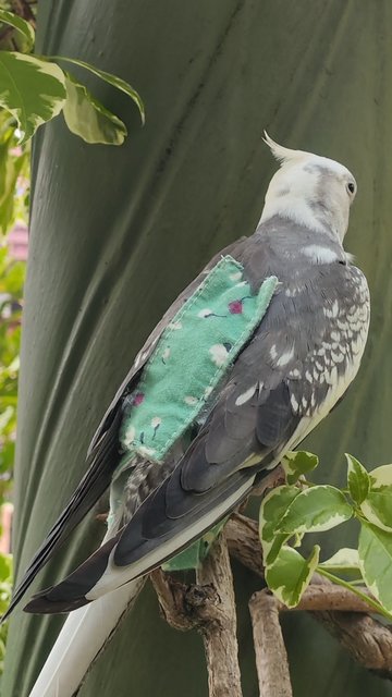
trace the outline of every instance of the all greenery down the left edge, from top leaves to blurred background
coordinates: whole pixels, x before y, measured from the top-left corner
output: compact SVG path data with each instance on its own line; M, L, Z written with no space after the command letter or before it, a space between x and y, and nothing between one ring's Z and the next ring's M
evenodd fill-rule
M144 105L125 81L74 59L32 56L35 11L0 1L0 506L12 485L19 377L19 351L25 265L10 258L7 233L16 219L28 217L29 139L37 129L63 113L69 130L87 143L121 145L125 124L101 105L70 72L58 64L69 60L125 93L145 120ZM1 530L0 530L1 533ZM0 614L9 604L11 557L0 553ZM7 624L0 629L0 675Z

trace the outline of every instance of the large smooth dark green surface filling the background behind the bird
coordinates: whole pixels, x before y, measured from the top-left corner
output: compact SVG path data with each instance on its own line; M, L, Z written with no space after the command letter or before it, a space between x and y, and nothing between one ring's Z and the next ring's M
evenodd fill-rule
M123 95L84 74L126 121L126 144L86 145L62 117L35 142L17 574L83 475L95 427L149 330L215 252L254 231L277 167L265 127L289 147L344 162L359 187L346 246L370 282L370 340L350 395L306 445L321 455L324 481L344 478L344 451L371 466L390 462L391 29L389 0L39 1L38 52L124 77L144 98L147 122L140 129ZM74 567L102 534L93 513L36 588ZM235 568L244 696L254 697L247 600L259 584ZM15 613L3 697L27 697L61 622ZM391 694L307 617L289 616L285 639L295 697ZM205 697L207 674L200 638L168 627L147 588L79 697L157 694Z

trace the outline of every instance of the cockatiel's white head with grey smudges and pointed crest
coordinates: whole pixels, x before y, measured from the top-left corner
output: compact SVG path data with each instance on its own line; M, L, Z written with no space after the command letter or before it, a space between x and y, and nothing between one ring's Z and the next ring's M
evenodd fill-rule
M342 242L357 189L353 174L335 160L290 150L267 133L265 136L281 167L268 187L260 222L282 216L314 230L332 232Z

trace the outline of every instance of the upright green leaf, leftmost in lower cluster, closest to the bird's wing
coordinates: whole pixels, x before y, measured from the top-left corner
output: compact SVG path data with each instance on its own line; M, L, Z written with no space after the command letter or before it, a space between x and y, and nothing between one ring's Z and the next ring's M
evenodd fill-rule
M265 564L270 564L277 557L287 535L277 534L283 515L294 499L301 493L297 487L283 485L270 491L260 505L259 536Z

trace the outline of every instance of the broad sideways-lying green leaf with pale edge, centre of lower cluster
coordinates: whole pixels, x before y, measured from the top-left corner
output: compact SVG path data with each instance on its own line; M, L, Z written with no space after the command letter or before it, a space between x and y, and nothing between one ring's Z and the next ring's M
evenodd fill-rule
M320 533L348 521L352 515L353 509L343 493L335 487L322 485L302 491L277 529L285 535Z

